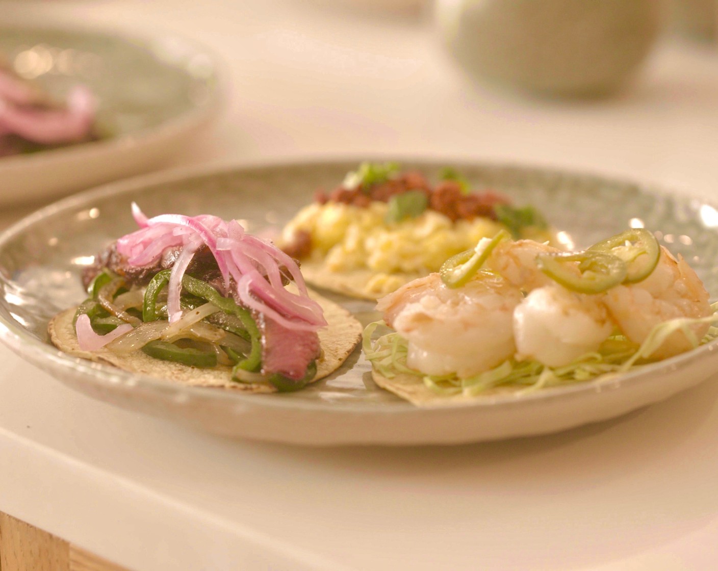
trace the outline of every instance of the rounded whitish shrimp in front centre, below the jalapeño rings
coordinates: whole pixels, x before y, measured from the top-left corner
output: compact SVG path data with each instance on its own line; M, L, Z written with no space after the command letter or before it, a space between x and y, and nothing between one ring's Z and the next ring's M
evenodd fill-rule
M613 327L599 297L569 292L558 284L539 287L513 312L516 357L564 366L597 351Z

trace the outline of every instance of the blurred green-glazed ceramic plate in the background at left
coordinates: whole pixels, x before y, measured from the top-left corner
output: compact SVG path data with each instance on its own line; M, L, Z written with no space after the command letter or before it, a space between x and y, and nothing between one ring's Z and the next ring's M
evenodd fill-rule
M147 172L196 138L220 101L213 57L177 37L0 23L0 55L57 98L87 85L105 138L0 158L0 205Z

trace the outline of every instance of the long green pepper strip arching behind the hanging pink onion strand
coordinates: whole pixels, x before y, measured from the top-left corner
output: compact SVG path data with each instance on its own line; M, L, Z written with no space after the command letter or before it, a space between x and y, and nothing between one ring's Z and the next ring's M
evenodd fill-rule
M142 316L145 322L157 319L157 296L169 283L169 274L171 271L172 270L169 269L159 271L147 285L147 289L144 293L144 303L142 305ZM210 286L207 282L202 282L201 279L185 275L182 277L182 288L189 294L202 297L202 299L213 303L223 312L239 317L239 320L244 326L244 330L233 328L232 333L236 333L250 341L252 348L249 355L246 356L243 361L240 361L237 366L245 371L258 371L262 358L261 335L259 334L257 324L254 322L251 313L244 309L244 307L237 305L234 300L230 300L228 297L222 297L214 287Z

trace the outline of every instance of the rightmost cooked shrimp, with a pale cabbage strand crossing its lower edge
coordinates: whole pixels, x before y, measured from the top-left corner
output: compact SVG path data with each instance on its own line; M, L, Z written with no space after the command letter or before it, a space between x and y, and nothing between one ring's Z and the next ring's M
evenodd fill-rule
M612 287L603 297L610 315L633 343L643 343L651 330L666 320L712 314L708 292L696 272L681 256L675 259L663 246L651 275L637 284ZM708 328L707 323L690 326L698 341ZM691 339L679 330L663 342L653 357L671 357L693 347Z

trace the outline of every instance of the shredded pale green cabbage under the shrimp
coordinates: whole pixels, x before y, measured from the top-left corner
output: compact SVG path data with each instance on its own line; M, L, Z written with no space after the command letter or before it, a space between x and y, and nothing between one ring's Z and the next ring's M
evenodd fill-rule
M606 373L625 373L651 363L651 355L677 330L686 334L694 348L708 343L718 338L718 327L710 327L704 338L699 340L691 331L690 325L718 322L718 302L712 304L711 308L713 314L708 317L680 317L656 325L640 345L632 343L624 335L611 335L598 351L587 353L566 366L551 368L538 361L516 361L511 358L489 371L465 379L459 379L456 375L425 375L406 366L409 352L406 340L389 330L383 321L367 325L362 344L368 361L387 379L392 379L398 373L414 375L417 381L423 382L427 388L445 396L476 396L497 386L514 386L518 389L518 394L523 394L551 386L589 381ZM373 339L380 328L388 333Z

